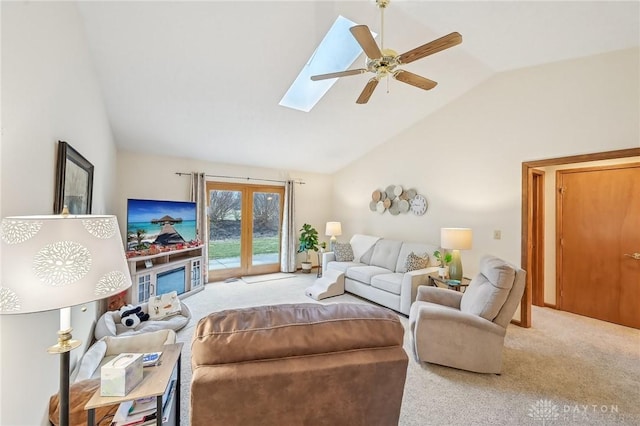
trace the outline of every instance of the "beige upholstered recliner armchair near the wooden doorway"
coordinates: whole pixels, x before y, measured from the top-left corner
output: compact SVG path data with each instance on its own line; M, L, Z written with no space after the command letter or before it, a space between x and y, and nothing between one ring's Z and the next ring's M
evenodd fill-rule
M409 313L416 359L499 374L504 336L524 287L525 271L494 256L481 259L464 293L419 287Z

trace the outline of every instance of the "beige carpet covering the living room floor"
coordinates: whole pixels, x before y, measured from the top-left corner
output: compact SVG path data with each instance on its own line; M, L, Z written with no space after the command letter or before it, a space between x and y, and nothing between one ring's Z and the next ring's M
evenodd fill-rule
M315 278L213 283L183 300L193 318L178 333L185 342L181 425L189 424L190 342L197 321L226 308L314 302L304 289ZM350 294L320 301L339 302L368 303ZM399 317L406 328L407 318ZM532 317L532 328L509 326L500 376L420 365L405 333L410 359L399 424L639 425L640 331L548 308L534 307Z

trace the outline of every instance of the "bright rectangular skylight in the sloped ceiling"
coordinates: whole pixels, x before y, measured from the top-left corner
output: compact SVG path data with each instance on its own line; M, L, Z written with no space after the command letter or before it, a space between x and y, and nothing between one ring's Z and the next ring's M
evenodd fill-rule
M338 16L287 93L280 100L280 105L304 112L311 111L311 108L337 81L337 78L311 81L311 76L345 71L362 53L362 48L349 31L349 28L354 25L357 24L344 16ZM376 33L372 32L372 34L373 37L377 36Z

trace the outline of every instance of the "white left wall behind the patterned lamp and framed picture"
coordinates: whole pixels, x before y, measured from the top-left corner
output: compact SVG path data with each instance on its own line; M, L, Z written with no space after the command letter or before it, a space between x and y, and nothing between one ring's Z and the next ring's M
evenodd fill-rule
M114 213L116 150L71 2L2 2L2 217L51 214L57 141L95 167L93 213ZM74 337L90 343L95 303L72 310ZM48 424L58 390L58 312L0 316L0 424Z

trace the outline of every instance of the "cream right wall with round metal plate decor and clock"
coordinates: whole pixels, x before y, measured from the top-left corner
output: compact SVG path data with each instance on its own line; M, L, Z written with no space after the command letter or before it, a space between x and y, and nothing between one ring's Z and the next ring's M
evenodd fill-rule
M638 52L492 77L336 173L335 219L346 235L435 244L441 227L473 228L473 249L462 252L467 276L486 253L520 264L522 162L638 147ZM416 188L427 213L371 212L371 192L389 184Z

